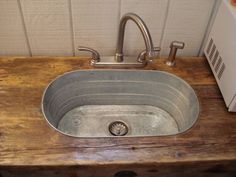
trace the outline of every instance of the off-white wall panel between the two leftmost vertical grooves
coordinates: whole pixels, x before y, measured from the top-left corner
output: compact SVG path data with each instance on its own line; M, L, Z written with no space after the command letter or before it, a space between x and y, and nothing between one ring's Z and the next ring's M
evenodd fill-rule
M69 4L65 0L21 0L32 54L71 56Z

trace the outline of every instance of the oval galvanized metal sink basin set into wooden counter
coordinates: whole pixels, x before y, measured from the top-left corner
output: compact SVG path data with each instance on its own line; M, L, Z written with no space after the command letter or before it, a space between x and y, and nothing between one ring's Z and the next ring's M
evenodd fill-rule
M164 136L191 128L199 102L191 86L166 72L84 70L52 81L42 111L69 136Z

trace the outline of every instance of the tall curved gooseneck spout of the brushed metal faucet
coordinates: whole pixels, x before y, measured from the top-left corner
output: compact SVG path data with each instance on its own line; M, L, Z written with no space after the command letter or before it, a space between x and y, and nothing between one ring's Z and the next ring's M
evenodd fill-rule
M122 62L124 60L123 46L124 46L125 26L128 20L132 20L133 22L135 22L135 24L140 29L146 46L146 58L152 59L155 56L155 51L151 35L146 24L138 15L134 13L127 13L121 18L119 24L119 32L118 32L117 47L115 54L116 62Z

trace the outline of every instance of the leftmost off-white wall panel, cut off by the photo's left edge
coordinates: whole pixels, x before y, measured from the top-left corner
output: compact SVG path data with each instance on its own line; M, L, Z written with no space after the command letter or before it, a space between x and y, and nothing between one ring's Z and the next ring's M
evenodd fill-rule
M30 55L17 0L0 1L0 55Z

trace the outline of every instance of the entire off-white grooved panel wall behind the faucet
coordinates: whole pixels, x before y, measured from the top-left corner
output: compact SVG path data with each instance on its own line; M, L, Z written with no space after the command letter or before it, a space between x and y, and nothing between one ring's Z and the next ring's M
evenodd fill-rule
M119 19L127 12L147 24L161 55L173 40L186 43L184 56L197 56L216 0L1 0L0 55L85 55L88 46L113 55ZM125 53L144 49L133 22L125 33Z

